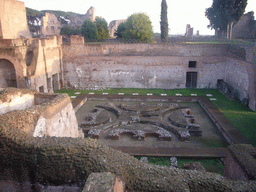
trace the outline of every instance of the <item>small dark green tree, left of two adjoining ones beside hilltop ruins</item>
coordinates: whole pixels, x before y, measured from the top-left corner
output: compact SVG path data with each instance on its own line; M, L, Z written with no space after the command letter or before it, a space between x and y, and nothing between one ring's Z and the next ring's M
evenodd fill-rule
M98 39L98 31L95 23L91 20L85 20L81 27L81 34L86 40L95 41Z

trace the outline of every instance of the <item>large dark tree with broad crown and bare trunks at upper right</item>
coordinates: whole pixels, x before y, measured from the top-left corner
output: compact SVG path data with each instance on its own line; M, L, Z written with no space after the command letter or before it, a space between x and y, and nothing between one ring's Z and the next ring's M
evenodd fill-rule
M232 38L232 27L244 14L247 0L213 0L205 15L210 20L209 27L227 32L227 38Z

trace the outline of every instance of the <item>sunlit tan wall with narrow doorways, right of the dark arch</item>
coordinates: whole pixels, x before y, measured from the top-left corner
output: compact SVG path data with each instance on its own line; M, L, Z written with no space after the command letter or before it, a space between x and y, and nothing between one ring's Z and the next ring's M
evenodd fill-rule
M27 66L29 69L27 88L46 93L52 93L61 88L61 81L63 81L61 43L57 36L29 41L35 50L33 62Z

